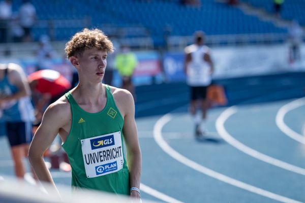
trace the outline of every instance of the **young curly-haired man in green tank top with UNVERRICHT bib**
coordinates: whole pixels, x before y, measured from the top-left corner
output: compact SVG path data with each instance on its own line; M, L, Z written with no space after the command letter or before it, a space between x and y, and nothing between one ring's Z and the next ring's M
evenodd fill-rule
M83 29L65 51L79 84L47 108L35 133L29 159L38 179L56 189L43 153L59 133L72 167L73 188L140 198L141 151L134 100L129 91L102 83L107 53L113 51L111 41L99 29Z

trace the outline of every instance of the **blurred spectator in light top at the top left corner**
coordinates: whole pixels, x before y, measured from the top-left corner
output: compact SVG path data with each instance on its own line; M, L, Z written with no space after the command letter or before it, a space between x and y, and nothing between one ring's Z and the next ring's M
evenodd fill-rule
M12 18L12 1L0 2L0 43L9 42L9 23Z

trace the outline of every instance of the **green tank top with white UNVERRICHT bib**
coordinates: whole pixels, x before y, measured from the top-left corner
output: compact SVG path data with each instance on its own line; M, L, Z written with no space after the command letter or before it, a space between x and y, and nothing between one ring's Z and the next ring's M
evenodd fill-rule
M72 123L63 143L72 168L72 187L130 194L129 171L124 154L124 120L108 85L105 108L98 113L81 109L71 92L65 94Z

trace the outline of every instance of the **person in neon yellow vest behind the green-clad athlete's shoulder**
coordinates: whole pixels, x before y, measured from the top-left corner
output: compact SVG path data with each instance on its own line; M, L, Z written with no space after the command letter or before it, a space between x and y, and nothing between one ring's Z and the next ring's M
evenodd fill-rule
M121 53L115 57L115 67L122 79L122 88L127 89L135 98L135 88L132 83L132 75L138 60L136 55L126 45L121 46Z

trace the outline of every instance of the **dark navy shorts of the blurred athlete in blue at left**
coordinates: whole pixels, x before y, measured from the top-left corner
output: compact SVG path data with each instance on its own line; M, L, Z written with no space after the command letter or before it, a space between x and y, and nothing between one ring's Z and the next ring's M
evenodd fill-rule
M29 144L32 141L32 123L31 122L7 122L7 136L10 145L17 146Z

